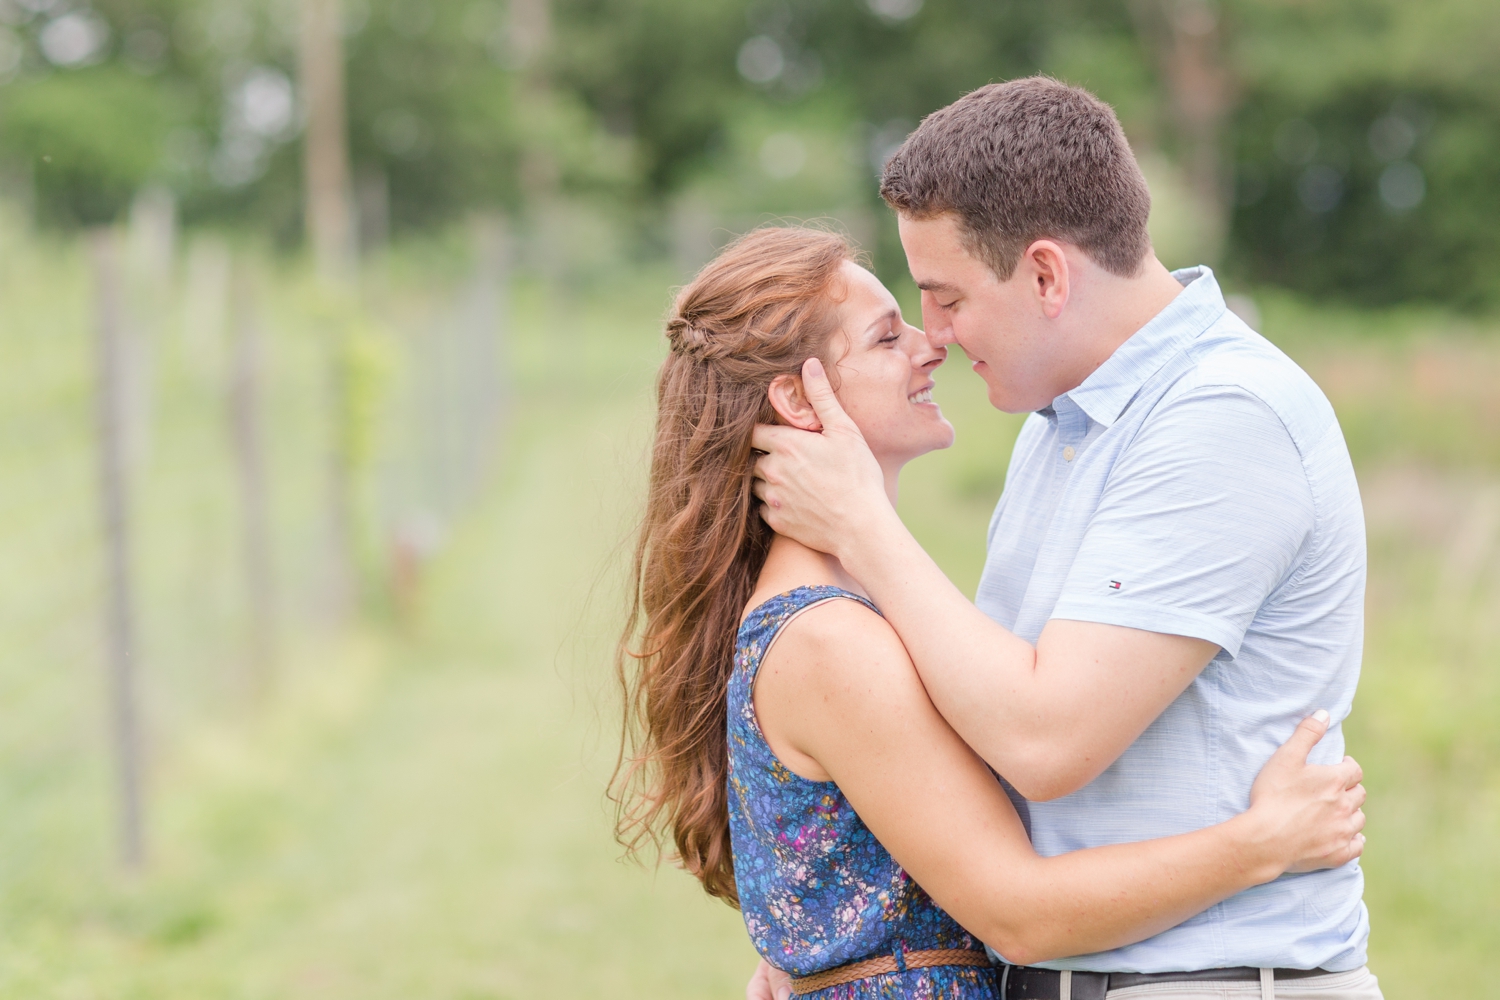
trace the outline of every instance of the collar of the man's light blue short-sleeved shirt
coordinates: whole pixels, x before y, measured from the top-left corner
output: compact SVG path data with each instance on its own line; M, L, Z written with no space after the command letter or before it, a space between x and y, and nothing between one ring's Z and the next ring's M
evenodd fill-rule
M1090 420L1108 427L1146 379L1224 315L1224 295L1210 268L1185 267L1172 276L1182 283L1182 292L1058 400L1070 399ZM1058 400L1052 409L1058 408Z

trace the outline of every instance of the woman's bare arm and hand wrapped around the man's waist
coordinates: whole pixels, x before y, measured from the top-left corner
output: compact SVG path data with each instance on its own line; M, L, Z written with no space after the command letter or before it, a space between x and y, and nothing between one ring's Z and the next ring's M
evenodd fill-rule
M1292 867L1359 855L1358 765L1308 766L1305 723L1257 783L1257 807L1192 834L1038 858L984 762L933 708L884 619L828 601L786 625L754 693L771 748L832 778L897 862L1018 964L1158 934ZM1300 757L1300 759L1299 759Z

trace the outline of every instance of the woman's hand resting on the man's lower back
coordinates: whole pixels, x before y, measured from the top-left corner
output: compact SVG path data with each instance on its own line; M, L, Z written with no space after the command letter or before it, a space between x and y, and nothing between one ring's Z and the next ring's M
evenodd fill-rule
M1310 765L1308 754L1328 732L1329 715L1302 720L1272 754L1250 789L1258 837L1282 871L1338 868L1365 849L1365 772L1353 757L1332 766Z

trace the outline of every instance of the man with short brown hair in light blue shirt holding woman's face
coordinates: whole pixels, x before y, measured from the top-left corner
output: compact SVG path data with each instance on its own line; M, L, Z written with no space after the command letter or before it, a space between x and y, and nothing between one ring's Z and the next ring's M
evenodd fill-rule
M870 592L936 706L1028 801L1042 855L1228 819L1317 708L1334 724L1314 760L1336 762L1365 586L1342 433L1212 271L1156 261L1110 108L1046 78L984 87L922 121L880 193L927 334L964 349L996 408L1032 411L978 595L891 510L816 363L822 433L756 432L766 522ZM1138 945L1010 969L1006 991L1376 1000L1362 891L1358 864L1284 876ZM762 970L752 996L772 987Z

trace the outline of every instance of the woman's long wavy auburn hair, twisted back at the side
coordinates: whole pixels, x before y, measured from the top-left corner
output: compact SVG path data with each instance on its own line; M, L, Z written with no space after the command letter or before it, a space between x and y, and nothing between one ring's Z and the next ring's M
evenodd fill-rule
M628 853L660 849L670 834L674 861L730 906L740 895L728 684L772 537L756 513L750 435L776 423L771 381L830 346L849 259L849 243L831 232L756 229L699 271L666 324L670 354L657 375L650 492L616 657L626 718L610 795Z

